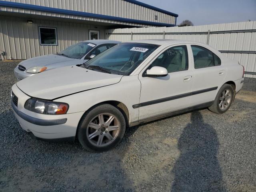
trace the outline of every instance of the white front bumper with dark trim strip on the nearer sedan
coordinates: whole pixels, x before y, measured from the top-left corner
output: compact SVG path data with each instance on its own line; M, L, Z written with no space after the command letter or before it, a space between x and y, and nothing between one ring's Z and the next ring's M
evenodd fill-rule
M32 132L35 138L41 140L76 136L77 126L84 112L63 115L37 114L24 108L26 100L30 97L19 90L16 84L12 86L12 92L18 97L18 106L11 102L14 115L26 132Z

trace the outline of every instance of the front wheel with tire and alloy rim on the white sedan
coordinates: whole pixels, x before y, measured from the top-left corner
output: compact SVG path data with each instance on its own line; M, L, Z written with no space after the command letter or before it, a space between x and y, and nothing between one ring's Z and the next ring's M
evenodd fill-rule
M125 128L122 112L110 104L102 104L84 114L78 125L77 138L88 151L107 151L122 140Z

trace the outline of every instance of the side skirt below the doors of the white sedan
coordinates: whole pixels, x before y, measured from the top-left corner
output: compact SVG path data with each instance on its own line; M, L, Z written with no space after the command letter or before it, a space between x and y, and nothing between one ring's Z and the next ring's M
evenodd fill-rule
M213 102L214 101L206 102L206 103L195 105L195 106L192 106L192 107L188 107L188 108L184 108L184 109L180 109L180 110L167 112L167 113L163 113L163 114L160 114L160 115L155 115L155 116L151 116L151 117L148 117L148 118L140 119L138 121L130 122L129 127L136 126L138 124L143 124L143 123L150 122L150 121L154 121L154 120L158 120L158 119L162 119L162 118L165 118L165 117L177 115L177 114L182 114L182 113L185 113L185 112L188 112L188 111L193 111L193 110L197 110L197 109L201 109L201 108L210 107L213 104Z

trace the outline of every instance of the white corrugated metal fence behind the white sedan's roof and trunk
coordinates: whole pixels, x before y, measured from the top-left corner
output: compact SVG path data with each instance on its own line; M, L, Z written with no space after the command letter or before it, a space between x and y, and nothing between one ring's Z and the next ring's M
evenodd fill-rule
M186 26L186 27L150 27L150 28L125 28L107 30L108 39L128 41L139 39L162 39L163 34L146 34L162 32L206 32L204 34L165 34L165 39L191 40L196 42L207 43L208 30L210 32L221 32L229 30L255 30L256 21L224 23L203 26ZM143 34L136 34L143 33ZM236 32L236 33L219 33L209 35L209 45L217 50L224 51L256 51L256 32ZM223 53L228 58L238 60L247 72L256 72L256 54L255 53ZM247 77L256 75L246 74Z

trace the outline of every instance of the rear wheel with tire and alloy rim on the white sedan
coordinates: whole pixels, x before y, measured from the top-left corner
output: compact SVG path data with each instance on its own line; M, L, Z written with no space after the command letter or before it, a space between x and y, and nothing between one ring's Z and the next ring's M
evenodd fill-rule
M228 91L228 93L227 93ZM225 93L225 95L224 95ZM216 98L208 109L214 113L222 114L226 112L234 100L234 89L230 84L224 84L218 91Z

